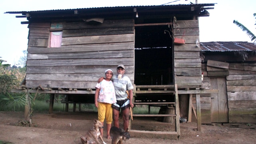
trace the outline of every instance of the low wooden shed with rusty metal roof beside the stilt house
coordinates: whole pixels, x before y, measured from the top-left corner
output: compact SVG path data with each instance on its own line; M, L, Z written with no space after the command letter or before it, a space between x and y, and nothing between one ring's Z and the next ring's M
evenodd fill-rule
M202 123L256 123L256 45L249 42L201 42ZM203 107L204 106L204 107Z

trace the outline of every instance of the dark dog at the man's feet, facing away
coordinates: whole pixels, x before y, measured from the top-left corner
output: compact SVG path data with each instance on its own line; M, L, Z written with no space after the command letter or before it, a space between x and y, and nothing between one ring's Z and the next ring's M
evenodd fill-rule
M110 136L112 137L111 144L122 144L123 140L128 140L130 138L130 134L128 132L128 128L126 131L122 128L117 128L115 126L112 126L110 128Z

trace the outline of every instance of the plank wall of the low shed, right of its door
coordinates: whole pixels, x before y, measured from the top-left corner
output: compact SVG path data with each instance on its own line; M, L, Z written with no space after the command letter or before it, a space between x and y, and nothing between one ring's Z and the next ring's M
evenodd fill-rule
M230 123L256 123L256 63L230 63L227 78Z

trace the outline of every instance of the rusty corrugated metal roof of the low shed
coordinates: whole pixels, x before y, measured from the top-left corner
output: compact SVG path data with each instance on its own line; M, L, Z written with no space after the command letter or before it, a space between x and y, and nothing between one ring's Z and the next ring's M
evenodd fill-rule
M250 42L200 42L200 49L212 52L256 51L256 45Z

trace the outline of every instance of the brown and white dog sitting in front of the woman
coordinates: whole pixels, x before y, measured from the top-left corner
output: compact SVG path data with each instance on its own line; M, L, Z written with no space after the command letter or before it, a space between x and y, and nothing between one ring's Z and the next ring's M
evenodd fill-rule
M93 127L86 132L85 136L80 136L82 144L100 144L98 138L100 138L103 144L106 144L100 136L100 128L103 128L101 122L94 119Z

